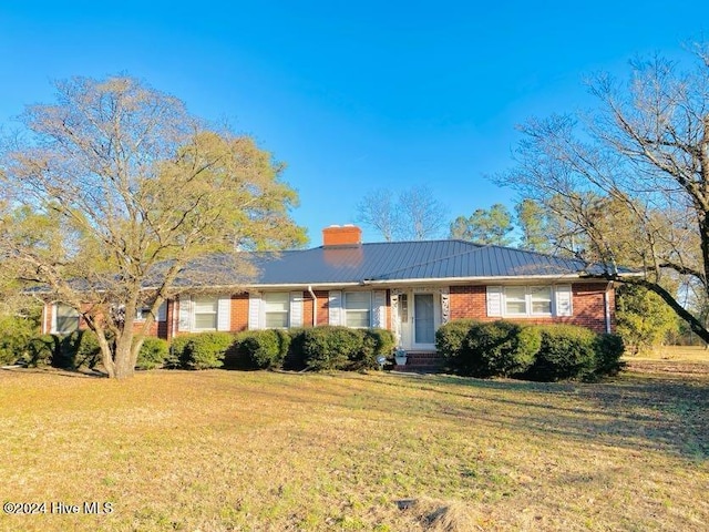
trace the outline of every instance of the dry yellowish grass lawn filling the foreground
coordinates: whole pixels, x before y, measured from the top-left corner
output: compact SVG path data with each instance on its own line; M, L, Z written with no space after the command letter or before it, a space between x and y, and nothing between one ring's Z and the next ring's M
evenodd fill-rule
M0 371L0 499L48 503L0 514L0 530L709 526L705 374L538 385L23 370ZM52 501L114 511L51 514Z

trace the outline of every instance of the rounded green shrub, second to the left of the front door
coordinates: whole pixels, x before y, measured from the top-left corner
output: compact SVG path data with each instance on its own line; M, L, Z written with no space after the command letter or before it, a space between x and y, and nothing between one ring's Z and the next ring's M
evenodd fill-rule
M302 352L306 365L316 371L349 369L363 345L360 329L322 325L305 329Z

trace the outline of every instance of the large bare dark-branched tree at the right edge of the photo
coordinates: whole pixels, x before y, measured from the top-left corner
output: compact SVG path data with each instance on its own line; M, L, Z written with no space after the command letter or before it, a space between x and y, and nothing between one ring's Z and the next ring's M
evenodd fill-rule
M709 294L709 48L682 70L661 57L635 60L625 82L589 81L589 114L532 119L520 127L516 167L497 177L583 233L584 256L605 277L658 294L692 330L709 330L668 288ZM644 277L617 275L620 260Z

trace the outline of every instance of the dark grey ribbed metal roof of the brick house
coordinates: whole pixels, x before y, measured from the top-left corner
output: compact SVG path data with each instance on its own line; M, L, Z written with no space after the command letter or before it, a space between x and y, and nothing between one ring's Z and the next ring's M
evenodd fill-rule
M255 265L259 269L255 285L584 276L606 269L573 258L453 239L320 246L261 254Z

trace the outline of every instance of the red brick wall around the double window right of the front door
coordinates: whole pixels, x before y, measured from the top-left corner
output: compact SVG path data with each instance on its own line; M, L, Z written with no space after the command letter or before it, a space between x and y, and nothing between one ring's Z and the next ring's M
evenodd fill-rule
M597 332L605 332L605 303L604 294L606 283L574 284L573 316L559 316L548 318L510 318L521 324L572 324L588 327ZM489 317L486 307L485 286L452 286L451 287L451 319L472 318L482 321L493 321L500 317ZM615 327L615 294L609 293L609 309L612 328Z

